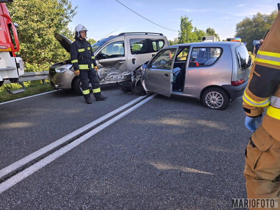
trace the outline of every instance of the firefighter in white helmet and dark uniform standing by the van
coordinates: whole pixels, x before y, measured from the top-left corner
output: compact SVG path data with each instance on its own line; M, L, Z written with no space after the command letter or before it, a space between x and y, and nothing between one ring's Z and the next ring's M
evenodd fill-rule
M97 64L91 45L85 38L87 29L79 24L75 27L75 41L71 44L71 63L74 67L74 74L80 76L82 81L82 92L87 104L91 104L89 82L92 84L92 92L96 101L102 101L107 97L101 95L99 80L97 77Z

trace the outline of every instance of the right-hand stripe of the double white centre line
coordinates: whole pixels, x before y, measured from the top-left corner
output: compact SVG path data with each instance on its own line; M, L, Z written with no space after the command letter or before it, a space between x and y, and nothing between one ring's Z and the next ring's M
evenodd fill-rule
M73 149L74 147L78 146L80 143L83 143L85 140L89 139L90 137L92 137L93 135L97 134L99 131L103 130L104 128L108 127L109 125L111 125L112 123L118 121L120 118L124 117L125 115L127 115L128 113L132 112L134 109L138 108L139 106L145 104L147 101L149 101L150 99L152 99L153 97L155 97L157 94L153 94L150 97L144 99L143 101L141 101L140 103L132 106L131 108L127 109L126 111L120 113L119 115L115 116L114 118L112 118L111 120L108 120L107 122L105 122L102 125L99 125L98 127L96 127L95 129L93 129L92 131L86 133L85 135L81 136L80 138L76 139L75 141L73 141L72 143L68 144L67 146L57 150L56 152L54 152L51 155L48 155L47 157L43 158L42 160L40 160L39 162L35 163L34 165L31 165L29 168L24 169L23 171L21 171L20 173L16 174L15 176L12 176L11 178L9 178L8 180L4 181L3 183L0 184L0 194L2 192L4 192L5 190L9 189L10 187L12 187L13 185L17 184L18 182L22 181L24 178L30 176L31 174L33 174L34 172L38 171L39 169L43 168L44 166L46 166L47 164L49 164L50 162L54 161L55 159L57 159L58 157L60 157L61 155L67 153L69 150Z

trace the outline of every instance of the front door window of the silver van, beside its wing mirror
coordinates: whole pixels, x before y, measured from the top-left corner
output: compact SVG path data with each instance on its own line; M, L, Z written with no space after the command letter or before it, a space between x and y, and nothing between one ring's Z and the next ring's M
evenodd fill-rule
M114 42L103 48L101 53L104 53L106 58L123 57L125 56L124 46L123 41Z

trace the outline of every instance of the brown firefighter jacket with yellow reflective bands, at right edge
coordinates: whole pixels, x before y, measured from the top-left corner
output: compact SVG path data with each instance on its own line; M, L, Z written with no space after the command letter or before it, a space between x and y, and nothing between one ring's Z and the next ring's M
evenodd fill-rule
M262 115L262 127L280 141L280 13L258 50L243 95L247 116Z

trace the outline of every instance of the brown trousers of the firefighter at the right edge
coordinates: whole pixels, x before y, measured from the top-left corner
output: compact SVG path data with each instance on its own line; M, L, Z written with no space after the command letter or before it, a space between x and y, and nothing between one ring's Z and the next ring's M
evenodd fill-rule
M262 125L249 140L245 162L247 197L278 199L280 208L280 142L270 136Z

